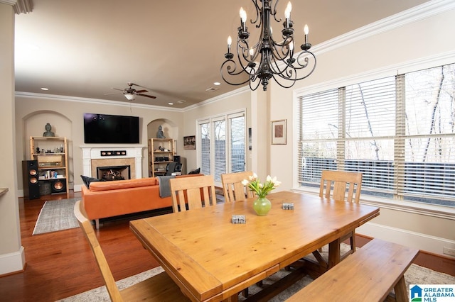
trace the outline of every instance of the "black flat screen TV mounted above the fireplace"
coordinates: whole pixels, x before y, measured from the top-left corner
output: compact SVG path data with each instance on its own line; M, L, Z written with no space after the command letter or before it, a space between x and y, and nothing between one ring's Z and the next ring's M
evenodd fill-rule
M139 144L139 117L84 113L86 144Z

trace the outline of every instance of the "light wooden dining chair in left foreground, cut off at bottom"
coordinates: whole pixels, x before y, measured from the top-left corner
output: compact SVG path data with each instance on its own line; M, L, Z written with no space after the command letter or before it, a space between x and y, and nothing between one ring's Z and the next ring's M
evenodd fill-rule
M95 255L107 292L112 301L190 301L183 295L177 284L166 272L161 272L138 284L119 290L117 284L115 284L109 264L107 264L105 254L102 252L100 242L97 240L97 235L80 201L75 203L74 215L90 243L90 248L93 255Z

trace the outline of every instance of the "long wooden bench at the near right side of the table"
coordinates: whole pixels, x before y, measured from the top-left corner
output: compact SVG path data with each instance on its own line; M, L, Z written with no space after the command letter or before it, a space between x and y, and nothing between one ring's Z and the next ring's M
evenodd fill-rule
M404 274L419 253L411 247L373 239L287 301L409 301Z

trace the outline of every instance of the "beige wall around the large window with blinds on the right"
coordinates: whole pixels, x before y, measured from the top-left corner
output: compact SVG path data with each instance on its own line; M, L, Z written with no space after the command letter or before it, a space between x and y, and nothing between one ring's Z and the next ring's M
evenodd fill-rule
M397 25L397 22L393 21L392 26ZM417 68L416 66L418 69L432 67L434 60L440 65L454 63L455 40L447 35L447 30L454 27L453 5L451 11L400 24L396 28L388 28L388 24L383 23L378 26L380 32L375 35L369 34L359 38L353 33L349 36L348 42L341 39L314 47L318 60L316 71L309 78L298 82L294 89L282 89L272 84L270 118L272 120L287 118L289 130L287 145L270 147L272 159L270 170L283 182L282 189L298 186L297 172L294 169L297 167L296 155L293 152L296 149L292 111L294 94L314 92L324 83L336 86L340 82L343 83L343 79L355 75L360 76L355 79L356 81L363 82L368 79L369 73L375 70L392 75L410 71L406 69ZM398 69L396 67L398 65L407 67ZM274 160L276 158L280 160ZM293 173L290 173L291 169ZM452 212L449 216L451 216L449 219L437 218L416 211L408 213L396 207L382 207L380 216L371 224L360 228L359 233L398 243L406 242L408 245L441 254L443 246L455 248L455 214Z

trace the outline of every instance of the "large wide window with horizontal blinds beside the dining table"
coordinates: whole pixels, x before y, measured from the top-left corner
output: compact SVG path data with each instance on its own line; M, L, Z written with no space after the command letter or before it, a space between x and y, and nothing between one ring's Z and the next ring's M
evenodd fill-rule
M299 184L363 173L362 194L455 207L455 64L299 97Z

